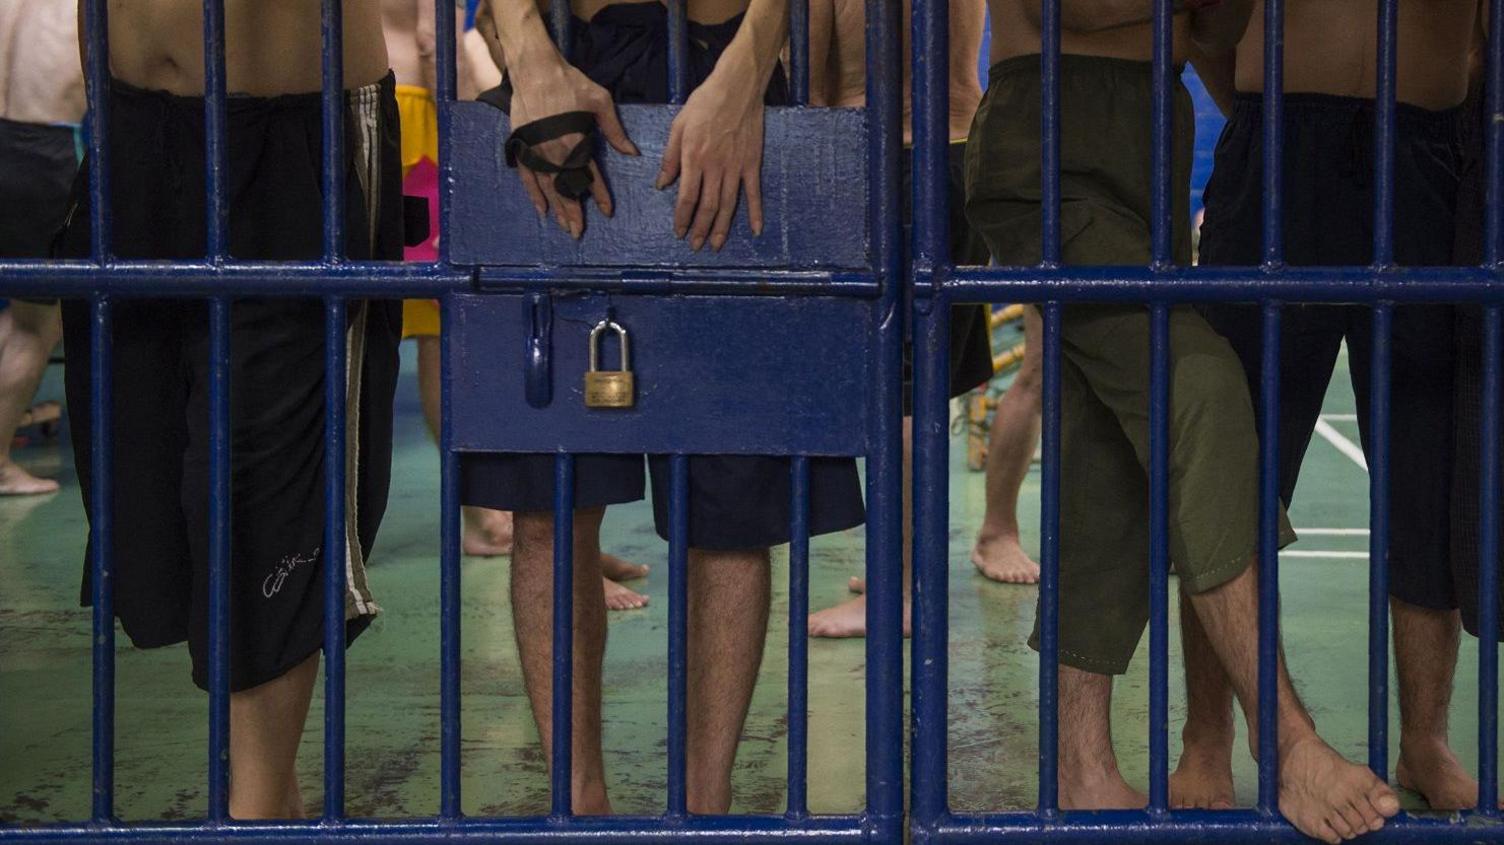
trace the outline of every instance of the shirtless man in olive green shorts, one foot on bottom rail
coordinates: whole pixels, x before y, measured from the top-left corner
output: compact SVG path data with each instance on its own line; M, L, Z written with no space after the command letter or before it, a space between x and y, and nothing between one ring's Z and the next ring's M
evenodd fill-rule
M1149 122L1154 3L1063 0L1060 233L1066 265L1151 260ZM1175 62L1232 50L1251 0L1184 3ZM1002 265L1041 257L1038 0L991 0L991 84L967 149L967 217ZM1190 95L1173 92L1173 257L1190 263ZM1071 305L1062 319L1059 800L1066 809L1139 807L1117 770L1110 714L1148 621L1149 314ZM1170 555L1217 662L1256 726L1257 433L1232 347L1190 308L1170 311ZM1281 511L1283 516L1283 511ZM1281 525L1281 543L1293 540ZM1038 647L1038 630L1032 644ZM1253 737L1250 737L1253 743ZM1253 744L1251 747L1257 747ZM1314 732L1278 678L1280 810L1339 842L1399 812L1393 791Z

